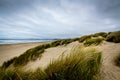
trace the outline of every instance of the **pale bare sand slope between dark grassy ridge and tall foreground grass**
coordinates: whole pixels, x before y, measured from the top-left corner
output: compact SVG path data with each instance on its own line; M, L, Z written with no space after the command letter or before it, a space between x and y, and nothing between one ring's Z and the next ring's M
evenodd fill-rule
M41 59L37 59L34 62L29 62L24 69L36 69L38 67L45 68L52 60L55 60L59 58L61 55L67 55L70 53L70 51L76 47L77 45L80 45L79 42L73 42L68 44L67 46L58 46L46 49L46 51L42 54Z

